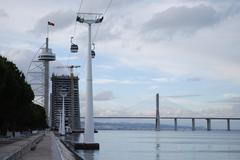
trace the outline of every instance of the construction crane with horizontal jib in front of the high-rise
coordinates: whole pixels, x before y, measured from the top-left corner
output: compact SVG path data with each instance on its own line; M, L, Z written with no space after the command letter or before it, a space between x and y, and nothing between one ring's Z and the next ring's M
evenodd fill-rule
M71 118L70 118L70 128L72 130L75 130L76 128L81 128L81 126L75 126L75 119L74 119L74 75L73 75L73 69L79 68L81 66L77 65L69 65L69 66L57 66L56 68L68 68L70 70L70 97L71 97ZM79 122L80 125L80 122Z

